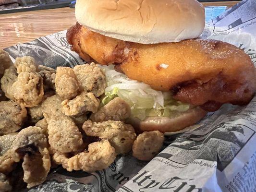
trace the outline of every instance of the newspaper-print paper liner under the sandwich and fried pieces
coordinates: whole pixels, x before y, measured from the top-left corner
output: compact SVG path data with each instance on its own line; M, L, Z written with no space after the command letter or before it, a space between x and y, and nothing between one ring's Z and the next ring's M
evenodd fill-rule
M83 63L66 31L5 50L50 67ZM256 0L244 0L206 24L202 38L242 48L256 65ZM95 173L57 168L29 192L256 192L256 96L244 107L224 105L186 132L166 135L149 163L119 156Z

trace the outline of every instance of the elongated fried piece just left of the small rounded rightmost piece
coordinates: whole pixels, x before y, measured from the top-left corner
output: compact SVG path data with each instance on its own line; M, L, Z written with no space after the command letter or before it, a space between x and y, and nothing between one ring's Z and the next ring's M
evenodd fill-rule
M97 123L87 120L82 128L88 136L108 139L117 154L128 153L136 138L134 128L122 121L108 120Z

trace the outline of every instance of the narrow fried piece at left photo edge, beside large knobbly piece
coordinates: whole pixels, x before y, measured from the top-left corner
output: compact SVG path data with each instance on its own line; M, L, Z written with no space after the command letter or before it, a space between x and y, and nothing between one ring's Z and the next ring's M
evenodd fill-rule
M1 78L1 89L5 96L11 100L14 100L14 96L11 92L12 84L18 80L18 73L14 66L4 71L3 77Z

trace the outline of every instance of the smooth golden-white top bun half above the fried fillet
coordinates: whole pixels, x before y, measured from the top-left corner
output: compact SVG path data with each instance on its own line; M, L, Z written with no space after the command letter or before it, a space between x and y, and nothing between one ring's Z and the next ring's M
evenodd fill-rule
M196 38L205 27L197 0L77 0L75 16L94 32L141 44Z

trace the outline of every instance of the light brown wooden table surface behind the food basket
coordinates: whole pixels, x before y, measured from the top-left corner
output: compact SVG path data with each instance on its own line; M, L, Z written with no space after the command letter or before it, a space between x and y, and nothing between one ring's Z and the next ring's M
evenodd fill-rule
M207 2L204 6L228 6L239 1ZM0 48L32 41L40 36L63 31L75 24L69 7L0 15Z

